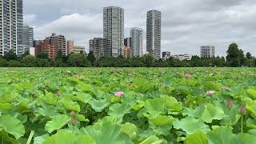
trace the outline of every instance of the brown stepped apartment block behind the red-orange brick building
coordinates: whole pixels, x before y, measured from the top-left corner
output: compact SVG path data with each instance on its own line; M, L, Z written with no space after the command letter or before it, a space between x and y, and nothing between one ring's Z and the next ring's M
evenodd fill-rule
M47 37L46 40L50 45L58 47L58 51L62 51L62 55L67 55L66 38L64 35L52 34L50 37Z

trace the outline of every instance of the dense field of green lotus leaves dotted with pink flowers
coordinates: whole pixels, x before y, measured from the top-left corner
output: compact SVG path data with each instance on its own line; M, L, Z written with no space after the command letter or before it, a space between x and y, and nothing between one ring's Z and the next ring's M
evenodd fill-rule
M7 143L254 144L256 69L1 68Z

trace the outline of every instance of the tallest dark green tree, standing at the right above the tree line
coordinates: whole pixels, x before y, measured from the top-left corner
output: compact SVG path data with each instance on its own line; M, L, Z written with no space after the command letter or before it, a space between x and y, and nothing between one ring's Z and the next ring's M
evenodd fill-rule
M229 46L229 49L226 52L226 61L232 67L241 66L241 50L238 49L238 45L236 43L232 43Z

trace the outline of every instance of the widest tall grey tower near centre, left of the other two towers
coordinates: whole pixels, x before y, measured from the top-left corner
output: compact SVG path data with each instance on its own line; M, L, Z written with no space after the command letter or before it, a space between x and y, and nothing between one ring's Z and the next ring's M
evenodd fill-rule
M110 40L110 54L118 57L124 53L124 10L117 6L103 8L103 38Z

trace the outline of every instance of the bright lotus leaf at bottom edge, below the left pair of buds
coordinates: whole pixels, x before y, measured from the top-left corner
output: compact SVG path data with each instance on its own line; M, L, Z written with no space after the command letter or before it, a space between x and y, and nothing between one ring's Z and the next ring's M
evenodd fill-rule
M96 144L93 138L88 135L77 135L65 132L58 132L47 138L42 144Z

